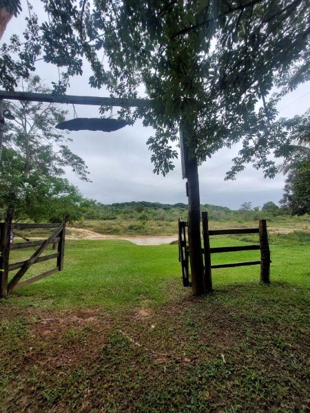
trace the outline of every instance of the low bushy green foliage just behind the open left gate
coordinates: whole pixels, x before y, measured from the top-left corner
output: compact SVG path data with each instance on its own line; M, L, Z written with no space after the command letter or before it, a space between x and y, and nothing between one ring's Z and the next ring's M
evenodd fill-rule
M68 180L44 176L36 170L26 177L25 160L6 147L0 169L0 219L10 208L14 209L15 220L60 222L64 213L72 221L81 218L83 197Z

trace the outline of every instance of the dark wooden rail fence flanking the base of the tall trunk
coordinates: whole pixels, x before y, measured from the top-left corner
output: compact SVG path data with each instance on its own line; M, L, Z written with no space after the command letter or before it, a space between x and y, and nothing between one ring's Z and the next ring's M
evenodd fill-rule
M187 222L178 221L178 245L179 245L179 261L182 266L183 285L191 286L189 281L189 248L186 240ZM242 246L221 246L216 248L210 247L209 237L211 235L236 235L236 234L251 234L258 233L259 244L242 245ZM270 283L270 251L267 235L266 220L259 220L258 228L246 229L216 229L209 230L208 214L203 212L203 255L205 261L205 285L206 290L212 290L212 275L211 270L216 268L229 268L236 266L260 265L260 282ZM225 264L211 264L211 254L214 253L230 253L234 251L254 251L260 250L260 260L247 262L232 262Z

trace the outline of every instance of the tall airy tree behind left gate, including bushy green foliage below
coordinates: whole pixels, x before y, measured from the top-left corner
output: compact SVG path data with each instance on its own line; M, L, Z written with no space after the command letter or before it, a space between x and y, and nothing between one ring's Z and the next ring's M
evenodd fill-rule
M38 76L23 83L23 89L46 93ZM54 104L6 103L10 120L6 123L3 156L0 165L0 206L15 209L16 218L61 219L63 213L78 218L83 198L68 180L61 178L63 167L71 167L79 178L87 180L85 162L76 156L66 138L54 128L67 112Z

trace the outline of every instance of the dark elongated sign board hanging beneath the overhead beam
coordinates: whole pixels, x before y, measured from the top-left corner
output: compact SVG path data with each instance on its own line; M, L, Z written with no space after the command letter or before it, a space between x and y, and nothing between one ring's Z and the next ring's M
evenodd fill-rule
M126 120L112 118L75 118L58 123L57 129L68 129L68 131L103 131L112 132L128 125Z

